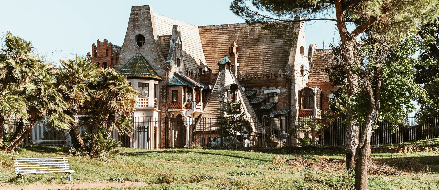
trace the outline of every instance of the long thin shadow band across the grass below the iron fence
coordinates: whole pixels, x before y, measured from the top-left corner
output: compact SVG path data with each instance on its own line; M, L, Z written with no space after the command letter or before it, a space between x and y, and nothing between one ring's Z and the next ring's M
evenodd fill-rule
M230 154L223 154L223 153L213 153L213 152L194 152L194 150L176 150L176 149L162 149L162 150L153 150L148 152L134 152L134 153L121 153L123 156L145 156L149 153L198 153L198 154L211 154L211 155L217 155L217 156L225 156L225 157L235 157L235 158L241 158L241 159L249 159L249 160L257 160L257 161L272 161L270 160L264 160L264 159L258 159L255 157L245 157L245 156L235 156Z

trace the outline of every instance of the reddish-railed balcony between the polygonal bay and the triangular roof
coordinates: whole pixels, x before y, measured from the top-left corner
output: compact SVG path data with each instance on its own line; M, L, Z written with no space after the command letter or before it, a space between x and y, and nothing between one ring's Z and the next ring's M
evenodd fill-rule
M197 102L169 102L168 111L187 117L198 117L202 113L203 105Z

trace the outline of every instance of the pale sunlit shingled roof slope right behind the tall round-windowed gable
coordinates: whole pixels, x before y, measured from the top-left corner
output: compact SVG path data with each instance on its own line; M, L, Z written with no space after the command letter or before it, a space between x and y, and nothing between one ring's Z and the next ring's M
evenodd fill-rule
M154 13L154 26L158 36L171 35L173 25L180 26L180 37L183 42L182 50L185 65L195 69L200 65L200 62L206 64L198 26ZM162 52L164 51L162 50ZM167 58L165 55L164 57L165 59Z

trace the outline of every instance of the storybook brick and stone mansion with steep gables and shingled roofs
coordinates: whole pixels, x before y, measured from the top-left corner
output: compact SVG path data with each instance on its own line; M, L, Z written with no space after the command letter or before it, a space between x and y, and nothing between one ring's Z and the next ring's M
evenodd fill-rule
M301 18L295 18L301 19ZM134 117L181 120L182 132L163 128L157 120L136 125L132 147L161 148L205 144L219 126L198 122L218 118L223 102L242 102L248 118L250 144L267 129L259 118L323 118L333 90L322 69L329 49L307 46L302 22L295 24L292 44L277 34L245 23L195 26L153 12L152 6L132 7L121 46L107 39L92 44L87 55L100 68L114 68L138 89ZM216 137L220 138L220 137ZM248 143L249 144L249 143ZM249 145L250 146L250 145Z

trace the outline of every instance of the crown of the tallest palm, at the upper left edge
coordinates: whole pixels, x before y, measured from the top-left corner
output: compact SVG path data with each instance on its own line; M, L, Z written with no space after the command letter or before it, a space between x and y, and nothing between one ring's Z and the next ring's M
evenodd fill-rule
M42 63L33 55L32 41L12 36L7 32L5 48L0 54L0 83L6 88L8 83L24 84L36 72L36 68Z

